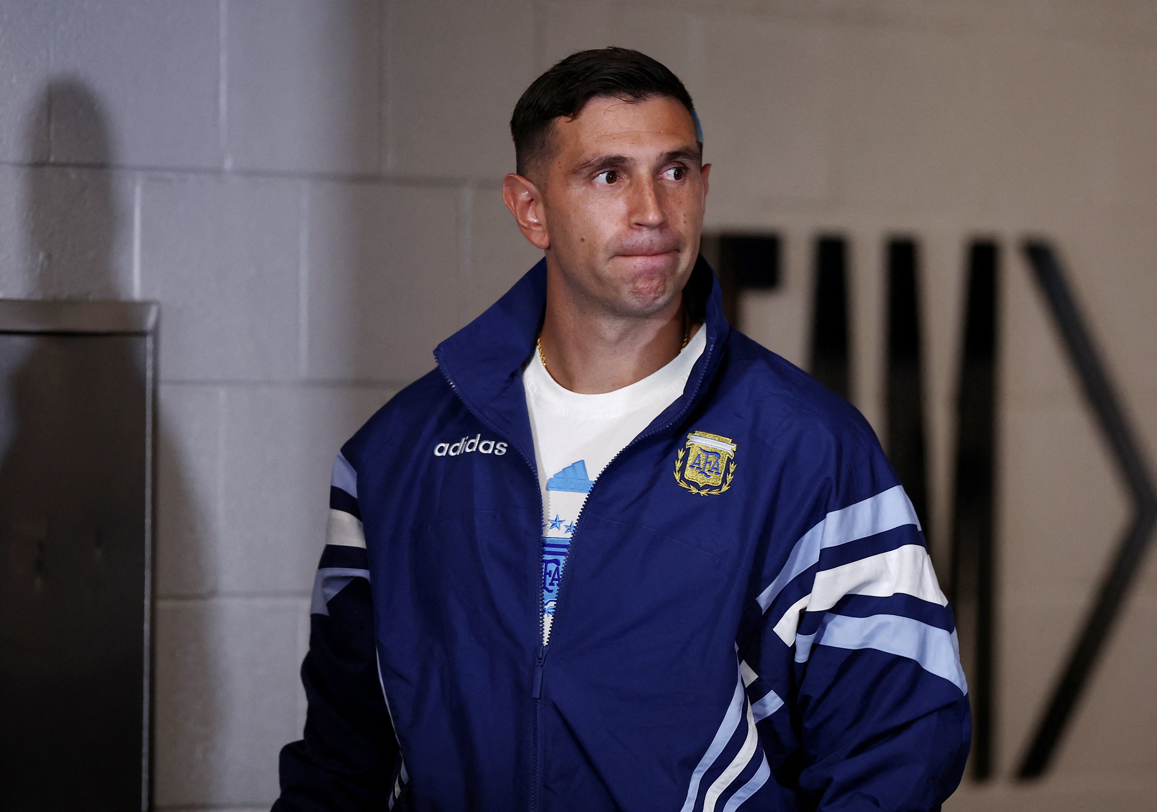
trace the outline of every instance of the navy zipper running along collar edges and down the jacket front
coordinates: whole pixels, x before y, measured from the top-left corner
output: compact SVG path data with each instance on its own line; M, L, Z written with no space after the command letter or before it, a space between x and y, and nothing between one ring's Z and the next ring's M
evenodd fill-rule
M703 325L702 329L706 330L707 325ZM703 347L703 353L702 353L702 355L700 357L709 357L712 348L714 346L715 346L715 339L709 339L707 341L707 346ZM491 431L494 431L494 434L496 434L496 435L499 435L501 437L504 437L507 440L507 442L510 442L509 437L506 437L506 435L502 431L499 431L496 428L494 428L489 423L489 421L485 420L482 418L482 415L479 414L477 409L474 409L473 406L471 406L469 403L466 403L466 399L464 397L462 397L462 392L458 391L458 387L457 387L457 385L455 385L454 379L450 378L450 376L447 374L445 369L442 367L441 363L439 363L439 369L442 371L442 377L444 377L447 379L447 383L450 384L450 389L454 390L454 393L456 396L458 396L458 400L460 400L462 404L463 404L463 406L465 406L466 409L472 415L474 415L474 418L478 420L478 422L480 422L482 426L485 426L486 428L488 428ZM591 486L590 492L594 492L595 488L598 487L598 482L602 481L603 477L606 474L606 472L610 470L610 467L612 465L614 465L614 463L619 459L619 457L621 457L624 455L624 452L627 449L633 448L636 443L640 443L643 440L647 440L648 437L655 436L659 431L665 431L666 429L671 428L677 422L679 422L683 419L683 416L687 413L687 411L691 408L691 404L694 403L695 397L699 394L699 390L702 386L703 378L706 376L707 376L707 368L703 367L703 371L700 372L699 379L695 381L695 387L693 390L691 390L691 397L687 398L686 405L681 409L679 409L679 412L673 418L671 418L671 420L669 420L668 422L665 422L664 425L662 425L662 426L659 426L659 427L657 427L655 429L651 429L650 431L644 431L643 434L640 434L638 437L635 437L629 443L627 443L621 449L619 449L618 453L616 453L613 457L611 457L611 462L609 462L605 466L603 466L603 471L598 474L598 479L595 480L595 483ZM538 466L533 462L531 462L530 459L528 459L526 455L523 453L522 449L519 449L515 443L510 442L510 445L513 448L515 448L515 449L518 450L518 456L523 458L523 460L526 463L526 465L530 466L531 473L535 474L535 486L536 486L535 489L538 492L538 522L539 522L539 531L541 531L543 507L544 507L544 504L543 504L543 487L541 487L541 483L540 483L540 481L538 479ZM590 492L587 493L587 499L583 500L582 507L578 509L578 515L575 517L575 530L570 534L570 545L569 545L569 548L567 551L567 563L570 563L570 561L572 561L572 559L574 556L574 552L575 552L575 536L578 534L578 529L581 526L580 523L582 521L583 510L587 509L587 503L590 502ZM541 559L541 544L543 544L541 532L538 533L538 537L535 539L535 544L536 544L536 547L539 549L538 558ZM539 566L541 567L541 564L539 564ZM551 622L551 634L552 635L554 634L554 629L559 625L559 611L565 605L565 601L562 600L563 590L566 589L567 583L569 582L569 577L568 576L569 576L569 573L570 573L572 569L573 569L572 567L563 566L563 568L562 568L562 576L559 580L559 597L554 601L554 620ZM543 774L543 752L541 751L543 751L543 748L541 748L541 743L539 741L539 722L540 722L540 717L541 717L543 667L544 667L544 665L546 663L546 655L547 655L547 652L548 652L548 650L551 648L550 643L543 643L543 633L545 632L545 620L544 620L544 615L543 615L543 611L544 610L545 610L545 606L543 605L541 576L539 576L539 585L538 585L538 641L537 641L538 642L538 655L535 658L535 674L533 674L533 681L532 681L532 688L531 688L531 699L535 700L535 775L533 775L533 778L532 778L532 782L531 782L531 785L530 785L530 812L538 812L538 788L539 788L539 785L543 782L543 777L541 777L541 774Z

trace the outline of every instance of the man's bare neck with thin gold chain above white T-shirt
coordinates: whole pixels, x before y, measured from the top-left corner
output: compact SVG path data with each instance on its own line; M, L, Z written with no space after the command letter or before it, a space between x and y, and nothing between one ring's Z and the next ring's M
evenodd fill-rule
M546 371L561 386L600 394L662 369L694 332L681 295L653 316L624 317L577 307L548 286L539 346Z

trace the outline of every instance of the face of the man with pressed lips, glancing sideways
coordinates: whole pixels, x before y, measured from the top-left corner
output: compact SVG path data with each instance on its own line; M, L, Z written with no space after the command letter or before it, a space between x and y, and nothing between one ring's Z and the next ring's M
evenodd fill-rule
M703 227L710 167L691 113L665 96L598 96L557 119L551 139L536 174L547 261L588 307L659 312L691 275Z

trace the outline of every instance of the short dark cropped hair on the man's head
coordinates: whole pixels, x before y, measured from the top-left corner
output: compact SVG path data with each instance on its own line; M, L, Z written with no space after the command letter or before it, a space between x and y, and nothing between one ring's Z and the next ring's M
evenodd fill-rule
M525 175L550 147L551 128L560 116L574 118L595 96L613 96L641 102L670 96L699 117L691 94L671 71L646 53L626 47L599 47L572 53L531 82L514 105L510 134L514 136L515 171Z

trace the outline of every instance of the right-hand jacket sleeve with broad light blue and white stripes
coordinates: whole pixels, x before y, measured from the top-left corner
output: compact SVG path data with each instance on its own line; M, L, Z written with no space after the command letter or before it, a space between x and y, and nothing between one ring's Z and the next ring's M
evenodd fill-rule
M912 503L875 437L862 450L757 598L749 702L801 809L927 812L964 772L967 685Z

